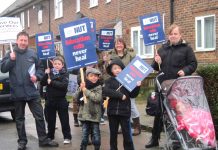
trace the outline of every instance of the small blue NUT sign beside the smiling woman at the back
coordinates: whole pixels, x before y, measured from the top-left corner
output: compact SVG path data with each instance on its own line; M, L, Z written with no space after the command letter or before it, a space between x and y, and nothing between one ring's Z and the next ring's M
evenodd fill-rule
M108 50L114 48L115 29L101 29L99 35L99 49Z

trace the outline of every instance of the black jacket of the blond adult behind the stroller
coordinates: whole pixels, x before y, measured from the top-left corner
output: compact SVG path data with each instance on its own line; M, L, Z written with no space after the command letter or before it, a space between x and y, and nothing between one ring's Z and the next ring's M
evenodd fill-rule
M169 79L176 79L179 70L183 70L185 75L191 75L197 68L197 60L192 48L183 40L178 45L170 45L169 42L163 44L158 50L162 59L159 70L158 64L153 61L152 67L164 72L160 77L160 82Z

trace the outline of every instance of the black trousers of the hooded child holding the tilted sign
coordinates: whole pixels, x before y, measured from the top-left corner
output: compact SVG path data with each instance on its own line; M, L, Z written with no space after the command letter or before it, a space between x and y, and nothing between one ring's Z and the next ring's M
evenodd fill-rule
M110 150L118 150L117 133L118 133L119 124L121 125L121 129L123 133L124 150L134 150L130 118L125 116L110 115L108 116L108 119L109 119L109 128L110 128Z

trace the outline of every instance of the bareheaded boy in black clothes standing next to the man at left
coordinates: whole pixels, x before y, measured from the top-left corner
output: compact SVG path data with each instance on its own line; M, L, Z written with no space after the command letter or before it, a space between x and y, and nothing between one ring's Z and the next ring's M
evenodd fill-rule
M71 143L71 131L69 124L68 105L66 93L68 87L69 74L64 67L64 60L57 56L53 59L53 68L45 70L41 84L47 86L47 117L48 117L48 138L54 139L56 112L58 112L64 144Z

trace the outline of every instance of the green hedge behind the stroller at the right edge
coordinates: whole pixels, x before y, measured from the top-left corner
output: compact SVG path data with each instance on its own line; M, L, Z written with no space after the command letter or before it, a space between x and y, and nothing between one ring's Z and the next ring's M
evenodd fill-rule
M204 79L204 91L218 138L218 64L200 66L197 73Z

